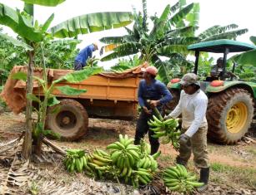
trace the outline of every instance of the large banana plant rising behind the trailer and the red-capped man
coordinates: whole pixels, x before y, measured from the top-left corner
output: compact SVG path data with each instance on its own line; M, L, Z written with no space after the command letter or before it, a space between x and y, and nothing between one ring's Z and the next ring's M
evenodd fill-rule
M168 5L160 17L150 17L153 27L149 29L146 3L143 1L143 12L134 10L133 29L125 27L128 35L103 37L100 40L110 46L116 45L113 53L104 56L101 61L140 53L140 59L150 61L158 67L159 76L167 83L169 75L161 56L169 58L178 53L188 54L187 46L198 40L193 37L193 32L198 25L199 4L187 5L180 0L173 7ZM106 47L110 47L109 45Z

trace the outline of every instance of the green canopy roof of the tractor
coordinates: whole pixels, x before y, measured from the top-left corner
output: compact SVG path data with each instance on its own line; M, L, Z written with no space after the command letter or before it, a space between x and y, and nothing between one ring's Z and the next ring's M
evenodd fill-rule
M228 48L228 52L242 52L256 49L256 46L250 45L245 42L233 41L228 39L198 42L188 46L188 50L206 51L213 53L223 53L226 48Z

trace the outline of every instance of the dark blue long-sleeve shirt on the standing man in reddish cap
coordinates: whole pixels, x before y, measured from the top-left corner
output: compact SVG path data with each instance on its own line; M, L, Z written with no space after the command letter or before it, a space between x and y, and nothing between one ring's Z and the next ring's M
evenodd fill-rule
M150 85L147 85L146 80L140 80L138 85L138 103L140 106L149 108L147 100L160 100L160 105L164 105L172 98L170 91L161 81L154 79Z

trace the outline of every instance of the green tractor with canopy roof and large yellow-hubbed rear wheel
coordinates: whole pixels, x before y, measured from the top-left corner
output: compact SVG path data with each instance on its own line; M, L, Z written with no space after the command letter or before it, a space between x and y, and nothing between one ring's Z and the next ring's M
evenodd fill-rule
M218 144L237 144L248 132L255 117L256 83L226 79L227 56L230 52L242 52L256 49L255 46L232 40L204 41L188 46L188 51L195 51L195 66L193 72L198 73L200 52L223 53L223 71L218 80L208 77L200 81L201 90L208 95L208 139ZM256 60L256 59L255 59ZM235 71L236 64L233 63ZM167 105L173 110L178 104L181 85L178 78L168 83L168 89L173 94L173 100ZM254 128L255 130L255 128Z

